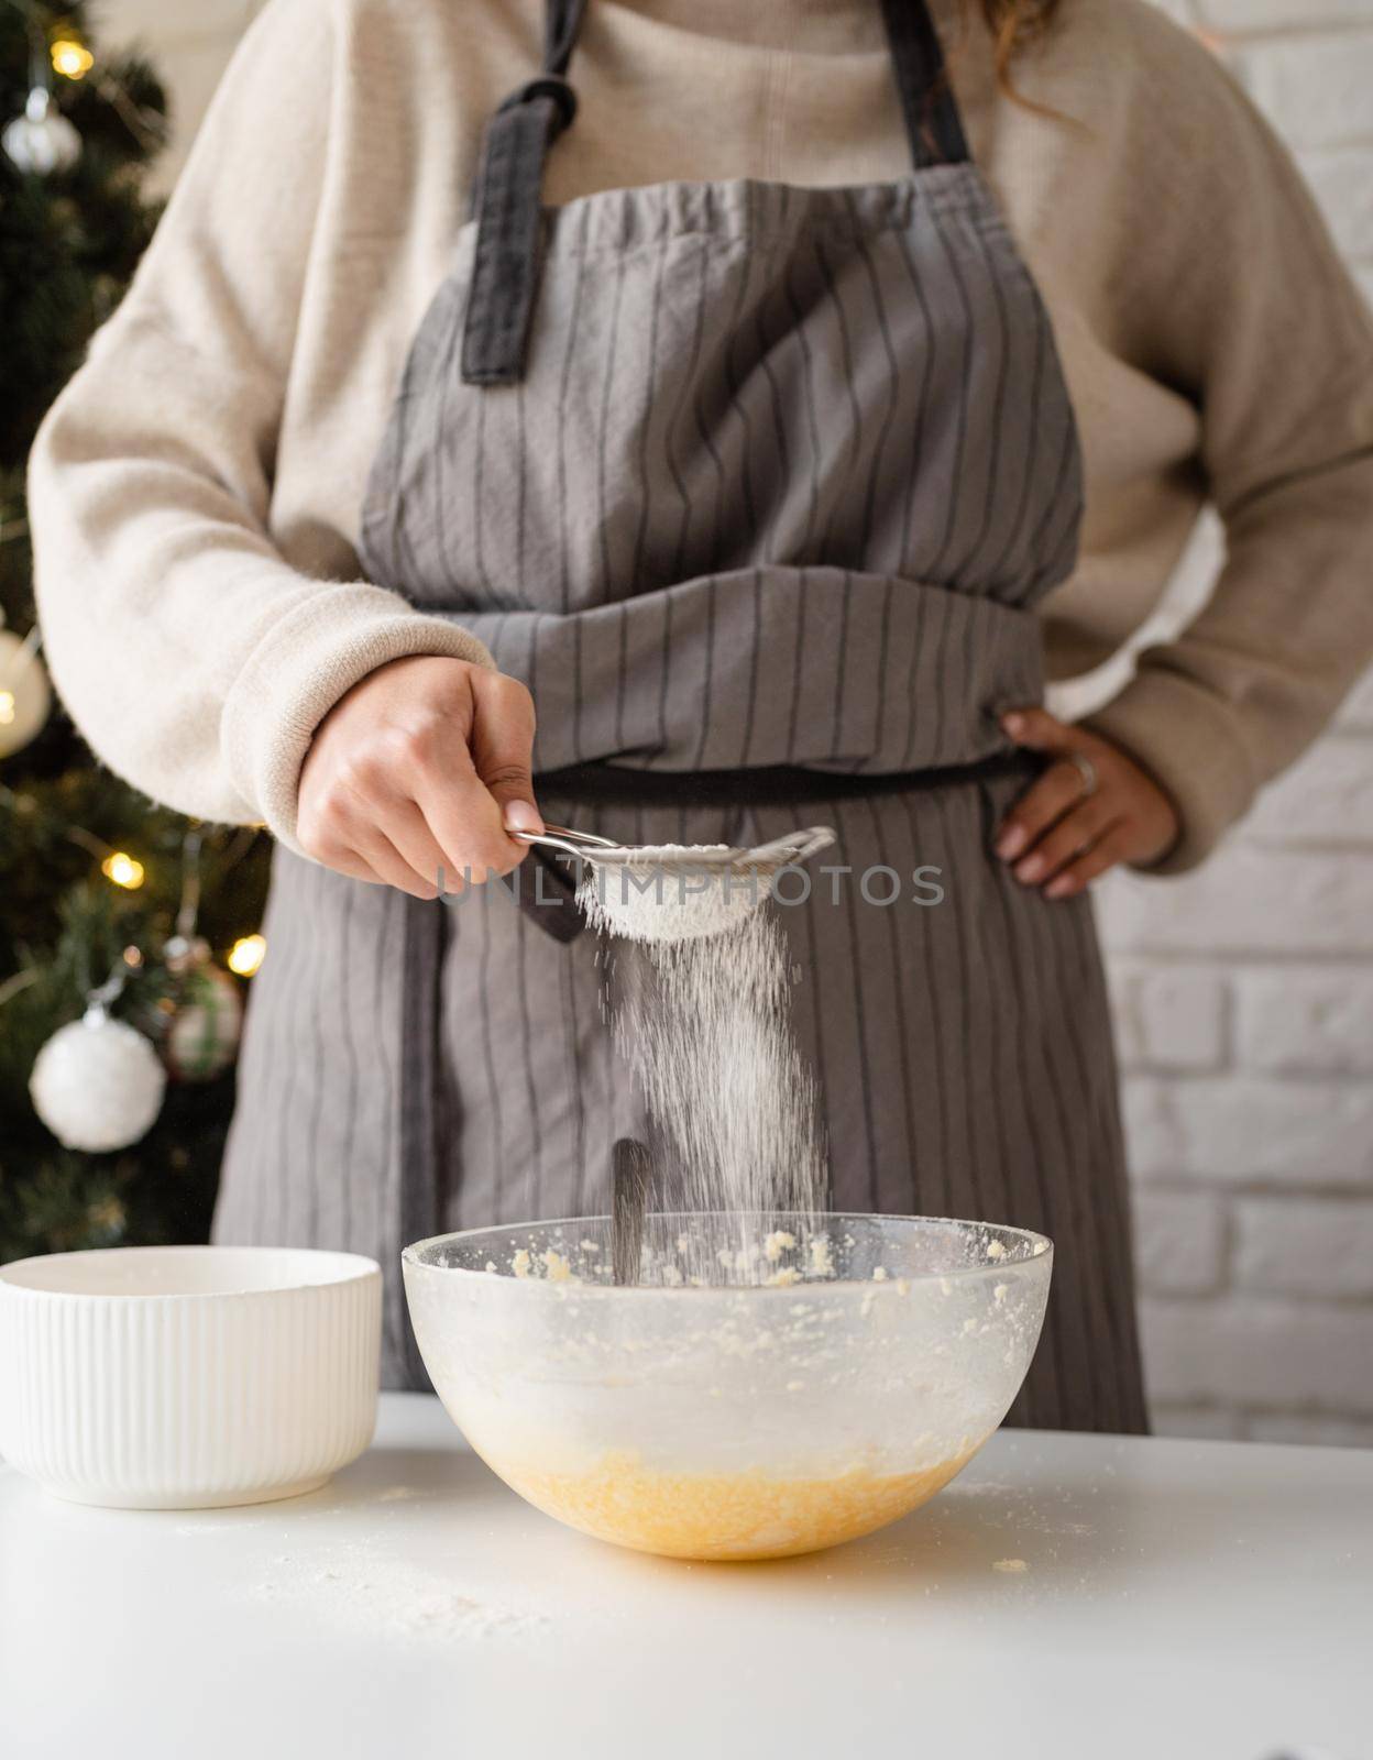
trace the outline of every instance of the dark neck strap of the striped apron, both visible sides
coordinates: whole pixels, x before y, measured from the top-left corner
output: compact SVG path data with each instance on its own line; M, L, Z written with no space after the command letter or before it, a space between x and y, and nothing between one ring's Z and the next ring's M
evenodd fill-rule
M463 319L461 373L468 385L523 377L539 280L544 160L577 114L567 67L586 0L546 0L544 69L512 92L482 136L472 197L477 246ZM917 169L968 157L928 0L882 0L896 90Z

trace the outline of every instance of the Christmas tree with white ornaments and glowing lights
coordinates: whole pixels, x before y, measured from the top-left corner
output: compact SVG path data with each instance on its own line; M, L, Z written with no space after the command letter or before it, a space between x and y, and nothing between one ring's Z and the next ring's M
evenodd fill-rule
M262 954L266 840L111 776L42 667L28 449L157 224L167 118L84 14L0 4L0 1260L206 1237Z

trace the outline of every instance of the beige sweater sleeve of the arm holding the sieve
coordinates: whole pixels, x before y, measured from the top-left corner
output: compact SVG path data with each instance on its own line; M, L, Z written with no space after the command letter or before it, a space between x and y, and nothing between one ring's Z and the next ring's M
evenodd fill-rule
M273 459L340 46L327 0L269 0L211 100L153 241L28 465L58 692L100 759L201 818L294 845L320 720L387 660L489 665L366 581L289 567Z

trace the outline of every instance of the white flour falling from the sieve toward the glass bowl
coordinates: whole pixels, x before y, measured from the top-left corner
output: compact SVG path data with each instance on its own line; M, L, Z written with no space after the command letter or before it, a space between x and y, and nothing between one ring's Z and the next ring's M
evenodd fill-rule
M644 852L646 873L664 852ZM790 956L766 880L701 868L685 891L676 869L658 876L660 887L620 887L614 871L591 873L579 889L588 919L620 938L611 1021L660 1139L655 1207L815 1214L827 1160L819 1096L792 1035ZM773 1232L760 1253L725 1251L722 1264L711 1250L685 1271L789 1283L780 1260L792 1246Z

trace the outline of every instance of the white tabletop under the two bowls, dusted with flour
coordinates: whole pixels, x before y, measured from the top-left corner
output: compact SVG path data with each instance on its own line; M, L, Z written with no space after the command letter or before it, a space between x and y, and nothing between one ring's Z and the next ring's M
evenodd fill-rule
M14 1760L1368 1760L1371 1661L1362 1450L1003 1431L926 1510L769 1565L570 1533L417 1394L285 1503L0 1470Z

